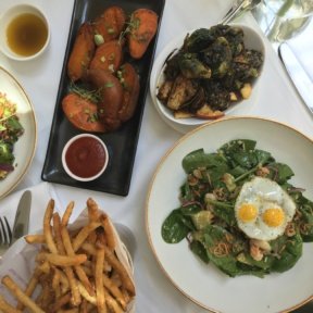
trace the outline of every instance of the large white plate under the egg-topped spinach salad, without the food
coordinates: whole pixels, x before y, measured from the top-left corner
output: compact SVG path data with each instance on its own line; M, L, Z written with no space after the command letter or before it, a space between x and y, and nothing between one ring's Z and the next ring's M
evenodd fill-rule
M205 265L189 250L186 240L166 243L161 226L172 210L179 208L179 187L186 179L183 158L203 148L214 152L233 139L256 140L256 148L295 172L290 183L305 189L313 199L313 141L288 125L261 117L228 117L200 126L179 139L160 161L152 178L147 203L146 227L161 270L187 298L213 312L289 312L313 298L313 243L303 245L303 255L289 271L264 278L230 278L214 265Z

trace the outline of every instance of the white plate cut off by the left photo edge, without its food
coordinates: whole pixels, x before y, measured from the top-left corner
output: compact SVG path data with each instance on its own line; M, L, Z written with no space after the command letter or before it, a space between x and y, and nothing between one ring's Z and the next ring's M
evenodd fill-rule
M11 192L26 174L37 145L37 124L29 98L21 84L4 68L0 67L0 92L16 104L24 134L14 145L14 171L0 180L0 199Z

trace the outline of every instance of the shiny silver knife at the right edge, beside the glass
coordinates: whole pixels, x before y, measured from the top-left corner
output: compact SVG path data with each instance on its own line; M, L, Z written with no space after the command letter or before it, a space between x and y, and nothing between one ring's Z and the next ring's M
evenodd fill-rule
M299 95L313 113L313 82L288 43L284 42L279 46L278 54Z

